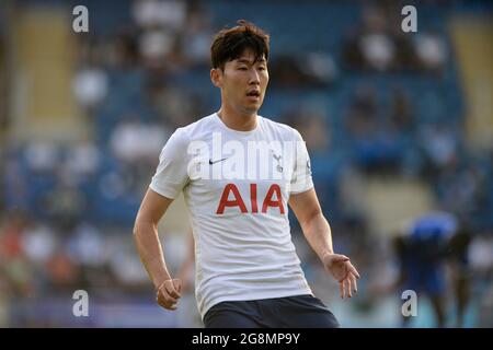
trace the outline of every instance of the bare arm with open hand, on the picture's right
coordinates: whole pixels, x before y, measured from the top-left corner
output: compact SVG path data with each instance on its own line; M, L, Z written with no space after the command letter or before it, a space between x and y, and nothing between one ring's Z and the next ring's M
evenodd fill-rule
M351 298L353 292L357 291L356 279L359 278L359 273L348 257L334 254L331 228L322 213L314 189L293 194L289 197L289 206L325 271L339 281L341 298Z

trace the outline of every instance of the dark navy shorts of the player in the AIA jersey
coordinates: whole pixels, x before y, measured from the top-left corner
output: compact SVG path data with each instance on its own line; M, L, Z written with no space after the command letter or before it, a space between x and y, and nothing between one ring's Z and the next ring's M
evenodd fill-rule
M206 328L337 328L330 310L312 295L221 302L204 316Z

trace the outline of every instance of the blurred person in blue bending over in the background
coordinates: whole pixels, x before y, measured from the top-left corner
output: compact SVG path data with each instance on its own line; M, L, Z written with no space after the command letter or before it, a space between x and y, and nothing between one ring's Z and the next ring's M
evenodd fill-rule
M437 327L446 326L447 290L450 285L457 303L457 327L463 325L469 301L468 247L470 228L451 213L434 211L417 217L394 237L400 265L397 285L429 298ZM451 269L448 284L446 265ZM403 318L409 326L410 317Z

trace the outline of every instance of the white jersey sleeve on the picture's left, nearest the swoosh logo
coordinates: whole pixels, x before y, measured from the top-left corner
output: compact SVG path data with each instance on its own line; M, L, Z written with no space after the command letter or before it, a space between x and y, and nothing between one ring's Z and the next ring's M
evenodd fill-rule
M161 196L174 199L190 180L187 173L188 138L177 129L168 140L159 156L159 165L150 188Z

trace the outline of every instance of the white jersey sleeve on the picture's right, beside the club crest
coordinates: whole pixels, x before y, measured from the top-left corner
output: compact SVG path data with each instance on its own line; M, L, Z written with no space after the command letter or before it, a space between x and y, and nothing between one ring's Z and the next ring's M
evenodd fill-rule
M300 194L313 187L311 177L310 156L308 154L307 144L301 135L294 130L295 133L295 166L290 183L290 192Z

